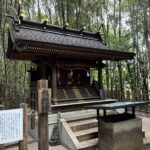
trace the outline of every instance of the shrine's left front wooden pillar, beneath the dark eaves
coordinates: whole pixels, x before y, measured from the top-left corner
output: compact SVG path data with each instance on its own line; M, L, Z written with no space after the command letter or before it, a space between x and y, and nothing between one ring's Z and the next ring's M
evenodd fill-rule
M57 98L57 71L55 64L52 65L52 97Z

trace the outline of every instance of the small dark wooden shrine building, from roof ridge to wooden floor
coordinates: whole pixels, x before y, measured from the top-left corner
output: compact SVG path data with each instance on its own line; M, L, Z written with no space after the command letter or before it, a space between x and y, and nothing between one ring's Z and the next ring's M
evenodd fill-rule
M52 89L52 105L93 104L104 99L103 60L131 60L135 54L108 49L99 32L48 25L27 20L11 22L7 57L36 64L31 75L31 99L37 99L37 81L47 79ZM98 70L98 82L90 78L91 68Z

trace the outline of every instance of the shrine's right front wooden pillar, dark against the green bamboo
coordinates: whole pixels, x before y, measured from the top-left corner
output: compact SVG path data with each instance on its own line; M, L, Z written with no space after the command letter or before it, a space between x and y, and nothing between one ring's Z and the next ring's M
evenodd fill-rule
M105 99L104 90L103 90L101 63L99 63L99 66L98 66L98 82L99 82L99 95L100 95L101 99Z

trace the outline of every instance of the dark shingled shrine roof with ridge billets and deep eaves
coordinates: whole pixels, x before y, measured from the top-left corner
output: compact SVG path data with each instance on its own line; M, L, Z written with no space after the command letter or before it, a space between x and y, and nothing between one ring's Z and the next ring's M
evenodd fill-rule
M99 32L47 25L22 20L9 29L7 57L34 60L39 56L61 55L104 60L133 59L134 53L108 49Z

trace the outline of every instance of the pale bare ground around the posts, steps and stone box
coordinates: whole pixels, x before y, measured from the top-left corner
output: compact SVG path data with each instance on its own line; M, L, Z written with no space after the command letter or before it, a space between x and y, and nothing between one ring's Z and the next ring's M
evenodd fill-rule
M141 118L142 118L143 130L145 131L145 136L146 138L150 138L150 118L147 118L147 117L141 117ZM31 137L29 139L31 140ZM7 150L19 150L19 149L10 148ZM38 144L37 143L29 144L28 150L38 150ZM53 146L53 147L50 146L49 150L67 150L67 149L63 147L62 145L59 145L59 146ZM144 145L143 150L150 150L150 143Z

